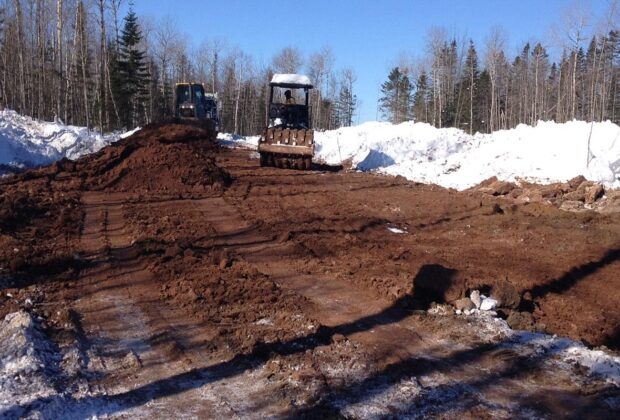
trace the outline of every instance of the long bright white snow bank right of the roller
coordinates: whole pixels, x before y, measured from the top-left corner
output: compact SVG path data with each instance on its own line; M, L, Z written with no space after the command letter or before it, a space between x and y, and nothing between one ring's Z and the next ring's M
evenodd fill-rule
M583 175L620 187L620 127L611 122L540 121L535 127L519 125L473 136L423 123L369 122L317 132L315 139L316 159L327 164L350 160L363 171L378 170L456 189L492 176L550 183Z

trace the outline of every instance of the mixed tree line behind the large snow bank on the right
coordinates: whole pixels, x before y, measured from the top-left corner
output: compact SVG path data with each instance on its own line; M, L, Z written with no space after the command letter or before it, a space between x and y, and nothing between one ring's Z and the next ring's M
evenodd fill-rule
M434 29L426 57L391 69L379 109L394 123L415 120L469 133L539 120L619 123L620 31L617 20L610 23L586 38L585 19L573 15L556 61L541 42L526 42L509 58L499 29L488 37L481 61L471 39L459 43Z

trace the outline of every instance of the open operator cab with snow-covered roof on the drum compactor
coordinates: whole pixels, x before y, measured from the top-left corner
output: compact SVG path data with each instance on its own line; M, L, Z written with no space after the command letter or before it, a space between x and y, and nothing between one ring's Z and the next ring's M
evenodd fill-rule
M269 83L268 127L311 128L310 89L307 76L274 74Z

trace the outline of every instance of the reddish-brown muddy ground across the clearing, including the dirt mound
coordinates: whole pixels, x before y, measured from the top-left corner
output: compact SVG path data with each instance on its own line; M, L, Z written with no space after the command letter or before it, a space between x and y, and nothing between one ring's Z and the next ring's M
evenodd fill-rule
M620 408L617 384L530 342L547 336L444 305L480 290L515 330L613 354L620 195L583 179L457 192L260 168L202 135L150 126L0 180L0 316L37 317L75 356L56 387L83 384L5 415L54 417L59 401L77 418Z

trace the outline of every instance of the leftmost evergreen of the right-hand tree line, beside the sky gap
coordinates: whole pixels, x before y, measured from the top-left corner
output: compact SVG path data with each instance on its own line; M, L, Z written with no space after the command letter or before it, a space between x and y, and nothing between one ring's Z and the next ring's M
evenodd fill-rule
M381 85L383 96L379 104L383 116L394 124L411 119L412 91L407 74L394 67L388 80Z

